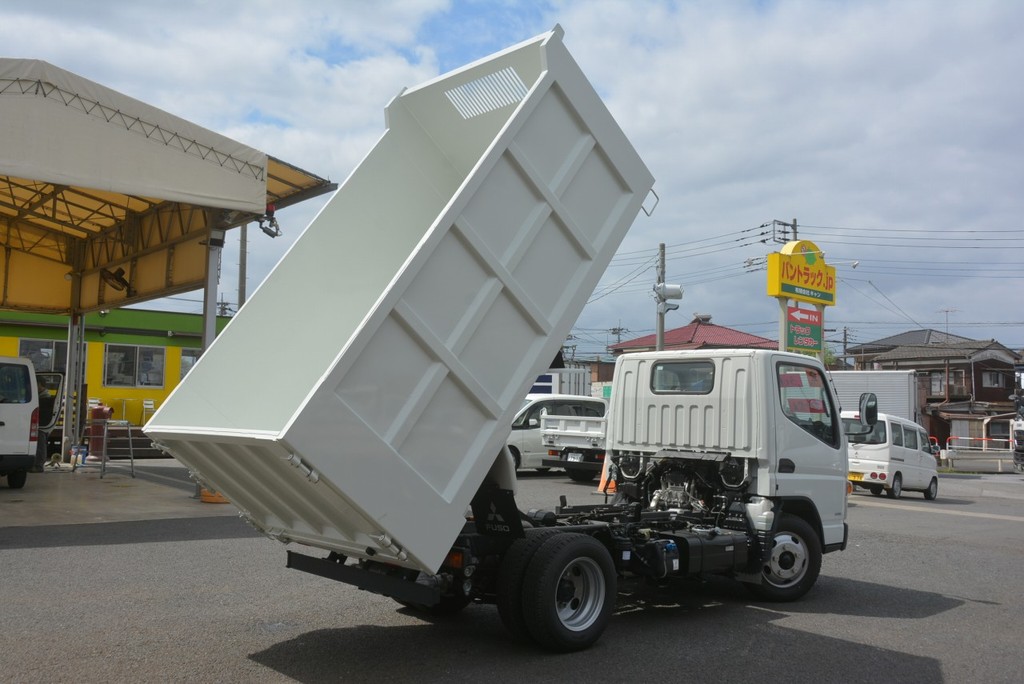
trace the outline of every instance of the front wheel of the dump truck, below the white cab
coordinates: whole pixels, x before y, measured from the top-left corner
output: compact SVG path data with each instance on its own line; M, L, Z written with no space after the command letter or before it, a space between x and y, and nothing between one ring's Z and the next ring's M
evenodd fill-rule
M821 543L807 522L783 514L761 568L761 584L749 585L767 601L795 601L806 594L821 571Z

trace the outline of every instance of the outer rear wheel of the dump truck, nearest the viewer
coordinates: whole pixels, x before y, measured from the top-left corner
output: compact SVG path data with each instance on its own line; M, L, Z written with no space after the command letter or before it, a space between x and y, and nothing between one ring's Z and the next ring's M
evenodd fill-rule
M544 648L577 651L600 638L615 607L615 568L604 545L589 535L544 542L526 568L523 614Z

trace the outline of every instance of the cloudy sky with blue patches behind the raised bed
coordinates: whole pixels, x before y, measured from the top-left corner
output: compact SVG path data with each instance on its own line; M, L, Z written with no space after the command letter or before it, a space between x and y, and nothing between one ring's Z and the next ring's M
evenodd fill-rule
M36 0L0 3L0 45L340 182L401 88L556 23L660 197L578 354L653 332L659 243L685 290L668 328L710 313L774 338L763 263L793 219L838 270L835 349L919 328L1024 348L1017 0ZM283 238L250 231L250 293L325 201L279 212Z

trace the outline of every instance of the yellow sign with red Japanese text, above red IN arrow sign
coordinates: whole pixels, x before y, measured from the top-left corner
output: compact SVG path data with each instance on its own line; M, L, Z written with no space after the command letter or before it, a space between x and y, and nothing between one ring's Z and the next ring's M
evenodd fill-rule
M768 296L833 306L836 267L825 263L821 250L809 240L788 242L768 255Z

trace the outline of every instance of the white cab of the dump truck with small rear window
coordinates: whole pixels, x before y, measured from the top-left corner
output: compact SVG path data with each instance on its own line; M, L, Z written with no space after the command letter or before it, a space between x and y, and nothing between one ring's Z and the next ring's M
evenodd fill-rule
M612 387L607 450L623 481L669 459L691 472L663 487L663 500L686 503L696 485L709 501L757 499L805 520L823 552L846 546L846 441L816 359L754 349L625 354ZM698 464L716 459L731 474L707 480ZM761 520L763 531L773 520Z

